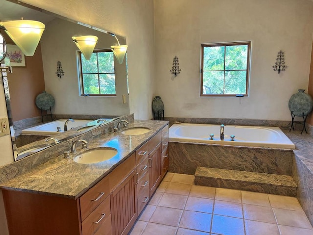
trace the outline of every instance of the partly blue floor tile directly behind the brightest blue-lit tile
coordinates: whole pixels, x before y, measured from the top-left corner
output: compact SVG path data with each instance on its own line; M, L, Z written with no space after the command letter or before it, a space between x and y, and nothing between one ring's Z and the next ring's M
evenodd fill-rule
M242 204L215 200L213 214L243 218Z

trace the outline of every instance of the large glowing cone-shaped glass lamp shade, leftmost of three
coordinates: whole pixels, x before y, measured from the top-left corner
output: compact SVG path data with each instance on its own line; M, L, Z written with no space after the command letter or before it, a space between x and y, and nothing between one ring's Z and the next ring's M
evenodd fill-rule
M45 24L39 21L18 20L0 22L6 33L26 56L33 56L38 46Z

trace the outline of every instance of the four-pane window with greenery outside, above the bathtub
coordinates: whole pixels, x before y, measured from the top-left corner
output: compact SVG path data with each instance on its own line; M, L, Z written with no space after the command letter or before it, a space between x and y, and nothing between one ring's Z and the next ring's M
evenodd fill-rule
M200 96L248 95L251 42L201 45Z

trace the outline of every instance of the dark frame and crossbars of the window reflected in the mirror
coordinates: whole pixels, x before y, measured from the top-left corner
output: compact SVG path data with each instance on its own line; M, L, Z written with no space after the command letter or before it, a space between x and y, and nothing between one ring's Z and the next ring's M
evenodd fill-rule
M112 49L97 49L94 50L92 53L99 53L99 52L112 52ZM83 67L82 67L82 52L77 51L77 58L78 58L78 64L79 64L79 83L80 83L80 96L98 96L98 97L116 97L117 96L117 91L116 91L116 70L115 70L115 56L113 53L113 60L114 60L114 73L112 72L107 72L107 73L84 73L84 74L98 74L98 82L99 82L99 87L100 87L100 80L99 80L99 74L114 74L115 79L115 94L86 94L84 90L84 79L83 79ZM97 54L98 57L98 54ZM98 71L99 71L99 65L98 66Z

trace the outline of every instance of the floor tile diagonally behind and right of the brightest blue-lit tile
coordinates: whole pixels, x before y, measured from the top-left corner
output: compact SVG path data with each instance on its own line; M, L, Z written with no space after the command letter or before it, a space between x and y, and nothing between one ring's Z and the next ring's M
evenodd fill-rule
M276 224L275 215L271 207L243 204L243 209L245 219Z

